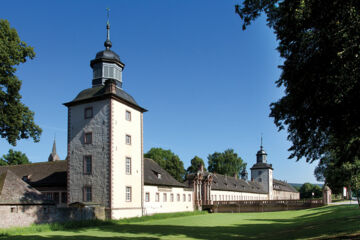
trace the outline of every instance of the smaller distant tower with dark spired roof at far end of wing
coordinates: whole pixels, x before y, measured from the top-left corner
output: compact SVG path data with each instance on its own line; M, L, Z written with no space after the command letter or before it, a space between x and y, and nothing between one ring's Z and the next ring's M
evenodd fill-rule
M261 184L268 193L268 198L273 198L273 168L267 163L267 153L262 146L262 137L260 150L256 153L256 163L250 168L251 181Z

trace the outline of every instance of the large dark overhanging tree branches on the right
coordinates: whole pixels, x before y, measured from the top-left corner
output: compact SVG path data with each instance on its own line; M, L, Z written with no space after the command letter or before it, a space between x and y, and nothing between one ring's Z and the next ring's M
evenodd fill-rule
M244 0L243 29L261 13L277 37L284 62L276 84L285 95L270 116L287 129L290 158L338 162L360 156L360 3L358 0Z

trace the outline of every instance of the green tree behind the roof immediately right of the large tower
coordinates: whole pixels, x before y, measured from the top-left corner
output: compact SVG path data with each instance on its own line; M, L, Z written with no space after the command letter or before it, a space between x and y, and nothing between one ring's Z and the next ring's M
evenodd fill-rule
M162 148L151 148L144 156L153 159L179 182L184 181L184 163L180 160L179 156L175 155L172 151Z

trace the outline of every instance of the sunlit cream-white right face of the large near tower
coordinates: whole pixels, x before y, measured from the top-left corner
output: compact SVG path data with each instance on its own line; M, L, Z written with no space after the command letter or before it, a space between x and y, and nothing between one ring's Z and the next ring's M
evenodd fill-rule
M142 133L141 112L116 100L112 104L112 218L142 215ZM131 120L125 118L131 112ZM131 145L126 144L131 136ZM125 171L125 159L131 158L131 174ZM126 187L131 187L131 201L125 199Z

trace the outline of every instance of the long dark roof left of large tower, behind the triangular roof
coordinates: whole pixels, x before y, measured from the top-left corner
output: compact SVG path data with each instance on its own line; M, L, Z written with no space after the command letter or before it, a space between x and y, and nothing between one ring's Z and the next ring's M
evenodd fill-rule
M59 187L66 188L65 160L54 162L40 162L23 165L1 166L0 174L11 170L20 179L25 180L32 187Z

